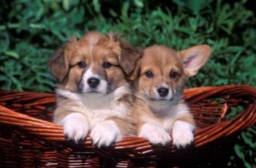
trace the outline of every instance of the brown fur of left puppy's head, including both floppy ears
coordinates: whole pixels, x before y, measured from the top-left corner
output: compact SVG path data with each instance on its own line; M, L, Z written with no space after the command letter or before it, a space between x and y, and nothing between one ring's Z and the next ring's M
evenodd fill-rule
M118 86L124 84L126 75L135 68L136 61L140 58L141 51L138 48L130 47L124 39L121 39L115 33L105 36L101 33L90 32L80 40L72 37L60 47L53 57L50 57L49 67L53 76L58 79L59 87L77 91L77 85L80 81L83 68L79 68L77 63L81 60L86 65L94 65L94 72L109 78ZM113 68L102 68L103 61L112 63Z

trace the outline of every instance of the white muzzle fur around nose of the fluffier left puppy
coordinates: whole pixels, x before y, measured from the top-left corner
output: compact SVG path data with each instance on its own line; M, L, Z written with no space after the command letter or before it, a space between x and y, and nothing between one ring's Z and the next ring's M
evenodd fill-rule
M93 64L91 65L91 68L93 67ZM89 86L89 84L87 83L88 79L90 78L97 78L99 79L99 85L97 86L97 88L95 88L95 91L105 94L106 92L108 92L108 82L105 79L102 79L98 74L93 73L91 71L91 68L89 68L86 73L83 74L83 92L90 92L91 87ZM90 94L90 93L89 93ZM91 93L91 95L98 95L95 93Z

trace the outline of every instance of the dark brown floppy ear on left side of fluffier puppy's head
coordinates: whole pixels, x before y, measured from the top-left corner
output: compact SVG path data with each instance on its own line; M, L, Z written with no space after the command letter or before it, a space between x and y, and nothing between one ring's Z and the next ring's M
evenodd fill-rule
M64 77L67 75L67 71L69 70L69 63L67 60L67 56L64 55L64 50L70 43L77 42L75 36L72 36L69 40L67 40L53 56L50 57L48 66L50 69L50 73L53 74L56 79L62 81Z

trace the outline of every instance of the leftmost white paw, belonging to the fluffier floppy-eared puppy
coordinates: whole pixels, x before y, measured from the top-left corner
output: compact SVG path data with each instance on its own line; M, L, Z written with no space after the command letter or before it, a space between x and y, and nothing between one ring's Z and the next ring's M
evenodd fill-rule
M64 135L69 140L75 140L75 143L86 138L89 132L88 121L81 113L70 113L62 119L61 125L63 126Z

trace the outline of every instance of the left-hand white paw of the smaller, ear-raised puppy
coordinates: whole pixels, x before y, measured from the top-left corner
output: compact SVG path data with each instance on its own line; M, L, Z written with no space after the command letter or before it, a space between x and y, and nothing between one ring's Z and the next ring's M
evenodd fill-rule
M163 129L155 124L146 123L140 129L139 137L146 138L150 143L155 145L165 145L170 143L170 135Z

